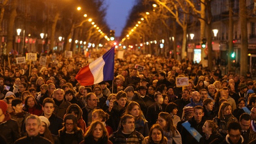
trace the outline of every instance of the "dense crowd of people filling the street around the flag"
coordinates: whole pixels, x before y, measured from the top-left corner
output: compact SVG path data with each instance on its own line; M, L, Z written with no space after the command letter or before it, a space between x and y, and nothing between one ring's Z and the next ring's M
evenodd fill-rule
M1 144L256 144L250 72L127 50L115 58L113 81L80 85L78 71L104 53L2 64Z

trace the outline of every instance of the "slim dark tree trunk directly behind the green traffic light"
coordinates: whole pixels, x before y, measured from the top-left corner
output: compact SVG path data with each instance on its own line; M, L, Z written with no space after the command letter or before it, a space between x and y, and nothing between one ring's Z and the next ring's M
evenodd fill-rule
M232 70L231 54L233 52L233 12L232 1L229 0L229 53L228 53L228 69Z

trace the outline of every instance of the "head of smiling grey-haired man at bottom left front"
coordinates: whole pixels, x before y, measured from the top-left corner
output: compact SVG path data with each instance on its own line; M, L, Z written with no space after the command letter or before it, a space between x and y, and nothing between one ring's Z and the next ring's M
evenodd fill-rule
M28 136L37 136L39 134L39 127L41 126L41 119L37 115L29 115L26 119L26 131Z

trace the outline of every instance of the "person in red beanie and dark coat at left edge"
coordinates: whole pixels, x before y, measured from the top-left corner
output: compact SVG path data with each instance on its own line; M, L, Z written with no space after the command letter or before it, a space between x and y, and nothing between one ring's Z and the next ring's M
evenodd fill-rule
M7 103L0 100L0 135L2 135L7 144L13 144L20 135L18 133L18 122L11 119L7 111Z

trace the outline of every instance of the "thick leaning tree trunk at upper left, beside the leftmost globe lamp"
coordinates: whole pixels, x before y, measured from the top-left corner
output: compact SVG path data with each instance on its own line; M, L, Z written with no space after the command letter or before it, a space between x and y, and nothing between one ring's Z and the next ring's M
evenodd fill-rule
M11 50L13 49L13 40L14 40L14 22L15 18L17 16L17 9L18 6L18 0L12 0L11 2L11 12L10 12L10 17L9 17L9 27L7 29L7 44L6 44L6 53L9 54Z

